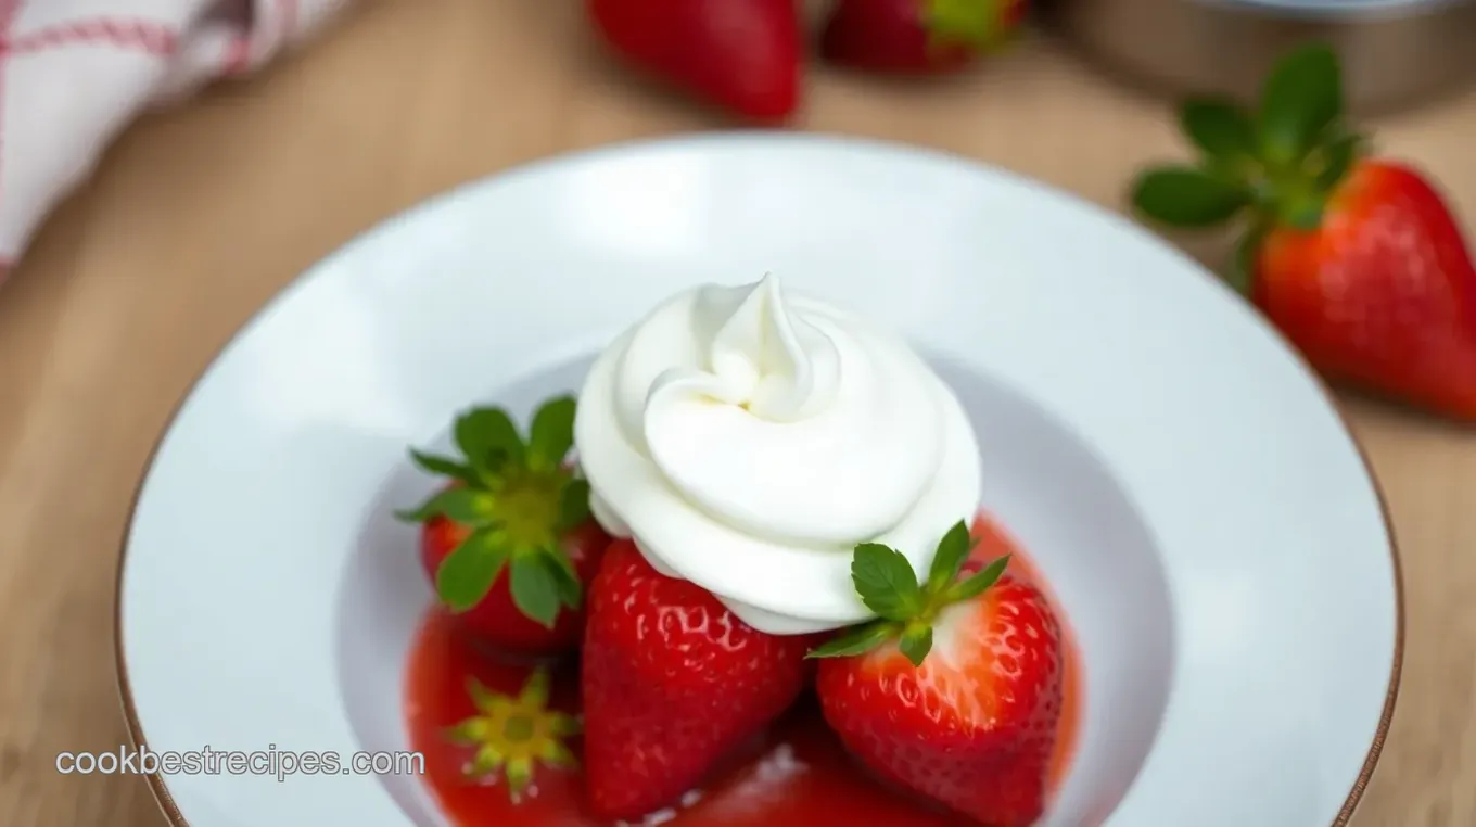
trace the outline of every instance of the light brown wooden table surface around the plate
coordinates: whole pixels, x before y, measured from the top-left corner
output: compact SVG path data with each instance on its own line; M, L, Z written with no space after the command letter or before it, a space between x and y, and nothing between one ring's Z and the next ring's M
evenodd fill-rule
M613 71L574 3L399 0L127 131L0 288L0 821L162 824L142 778L59 775L55 756L125 743L112 632L130 498L176 402L263 301L459 182L720 126ZM956 81L819 74L803 126L958 151L1114 208L1134 168L1181 152L1162 100L1039 38ZM1374 126L1476 230L1476 93ZM1345 409L1407 591L1398 713L1353 824L1470 827L1476 436Z

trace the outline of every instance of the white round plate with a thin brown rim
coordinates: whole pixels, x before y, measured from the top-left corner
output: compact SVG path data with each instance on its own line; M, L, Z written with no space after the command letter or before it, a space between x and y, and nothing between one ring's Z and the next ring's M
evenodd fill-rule
M1085 656L1046 821L1342 824L1399 673L1398 564L1321 385L1210 275L1035 182L859 140L716 136L536 164L297 281L183 403L139 492L120 681L155 753L404 749L430 601L404 449L520 412L652 303L768 270L890 320L962 396L984 505ZM193 827L438 823L415 778L173 774Z

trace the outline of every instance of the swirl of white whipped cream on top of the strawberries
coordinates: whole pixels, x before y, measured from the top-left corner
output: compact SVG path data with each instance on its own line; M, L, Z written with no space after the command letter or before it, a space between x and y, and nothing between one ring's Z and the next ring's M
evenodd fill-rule
M682 292L620 335L579 397L595 518L769 634L871 616L852 549L925 569L979 507L974 433L900 337L781 291Z

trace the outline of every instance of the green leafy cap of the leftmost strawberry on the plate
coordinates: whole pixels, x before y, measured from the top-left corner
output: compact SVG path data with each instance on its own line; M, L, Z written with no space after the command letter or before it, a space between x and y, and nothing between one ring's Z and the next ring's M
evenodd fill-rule
M453 611L466 611L508 569L512 603L552 629L561 608L577 610L583 601L562 548L565 532L589 517L589 483L565 462L574 446L574 397L543 403L527 440L500 408L466 411L453 436L459 459L410 450L416 465L452 484L397 514L409 523L443 517L471 529L437 567L437 594Z

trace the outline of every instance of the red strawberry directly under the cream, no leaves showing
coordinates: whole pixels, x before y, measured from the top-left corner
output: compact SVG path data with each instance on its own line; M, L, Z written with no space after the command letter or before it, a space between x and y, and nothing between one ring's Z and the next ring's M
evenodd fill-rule
M753 629L615 541L590 583L580 675L595 814L638 820L676 803L794 703L809 644Z

